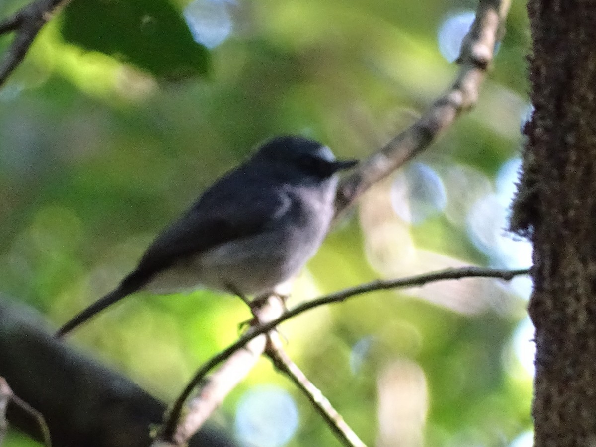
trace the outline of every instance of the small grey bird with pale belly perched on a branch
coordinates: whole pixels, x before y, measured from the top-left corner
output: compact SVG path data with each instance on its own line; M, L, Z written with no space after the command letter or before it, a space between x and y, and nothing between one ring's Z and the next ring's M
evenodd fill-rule
M337 174L356 164L336 160L328 146L303 136L268 140L163 230L114 290L55 336L140 290L206 288L245 301L274 292L321 246L334 215Z

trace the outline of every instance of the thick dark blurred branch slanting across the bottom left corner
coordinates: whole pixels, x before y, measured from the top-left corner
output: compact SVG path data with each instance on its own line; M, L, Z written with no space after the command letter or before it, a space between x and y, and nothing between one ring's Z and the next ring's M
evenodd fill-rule
M130 380L58 342L44 320L0 297L0 376L40 411L54 447L146 447L166 407ZM41 386L41 384L43 386ZM8 419L39 439L38 423L14 405ZM233 447L206 426L190 447Z

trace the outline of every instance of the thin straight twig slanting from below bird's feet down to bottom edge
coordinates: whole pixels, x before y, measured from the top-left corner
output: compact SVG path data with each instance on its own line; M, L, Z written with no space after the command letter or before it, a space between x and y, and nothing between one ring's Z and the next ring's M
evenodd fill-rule
M306 398L315 407L316 412L327 422L331 430L339 438L340 442L347 447L367 447L356 433L343 420L342 415L331 405L331 402L323 393L310 381L306 374L300 370L284 351L280 336L277 332L270 332L267 335L268 343L265 355L273 362L281 373L284 373L296 385Z

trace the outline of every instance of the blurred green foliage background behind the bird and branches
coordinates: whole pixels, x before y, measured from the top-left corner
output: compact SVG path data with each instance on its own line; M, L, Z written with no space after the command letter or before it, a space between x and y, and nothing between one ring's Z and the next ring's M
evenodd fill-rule
M58 326L116 285L163 226L266 137L302 133L339 157L365 157L451 85L457 67L440 55L437 29L475 2L234 5L234 32L210 54L182 29L185 0L75 0L44 29L0 90L2 292ZM474 242L469 215L523 143L528 48L524 5L513 2L477 108L417 159L438 173L446 207L410 224L393 212L393 180L375 187L309 263L290 305L377 277L499 264ZM208 64L209 79L172 81ZM442 283L312 311L283 333L368 445L504 446L530 427L532 377L511 348L525 305L502 283ZM237 298L204 290L139 293L73 340L172 399L247 318ZM296 399L288 446L339 445L265 360L226 399L224 420L263 383ZM387 396L393 405L380 404ZM424 441L384 440L390 411L396 421L418 415L409 427L418 424ZM30 443L14 435L7 445Z

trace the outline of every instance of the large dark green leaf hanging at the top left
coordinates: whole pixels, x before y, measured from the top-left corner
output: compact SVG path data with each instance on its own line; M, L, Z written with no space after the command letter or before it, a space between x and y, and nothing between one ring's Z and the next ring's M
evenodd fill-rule
M209 66L209 51L167 0L76 0L63 13L61 33L162 79L202 76Z

